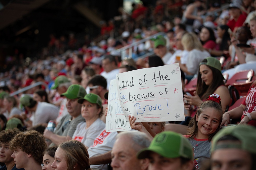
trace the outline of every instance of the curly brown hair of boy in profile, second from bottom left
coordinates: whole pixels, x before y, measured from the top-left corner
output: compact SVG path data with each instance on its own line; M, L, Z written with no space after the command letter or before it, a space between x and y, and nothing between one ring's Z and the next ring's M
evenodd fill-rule
M10 149L20 148L31 154L37 163L42 163L43 152L46 150L45 137L35 130L28 130L17 134L9 143Z

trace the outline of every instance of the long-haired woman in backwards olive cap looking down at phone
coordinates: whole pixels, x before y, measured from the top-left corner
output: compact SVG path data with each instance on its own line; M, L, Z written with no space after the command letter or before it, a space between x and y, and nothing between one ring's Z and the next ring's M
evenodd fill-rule
M223 75L221 73L221 64L219 60L214 57L207 57L199 64L199 71L197 77L197 88L194 92L195 96L184 95L185 109L189 110L191 117L194 116L194 107L198 106L202 101L206 100L210 94L219 94L222 111L225 112L230 103L230 94L228 88L223 82Z

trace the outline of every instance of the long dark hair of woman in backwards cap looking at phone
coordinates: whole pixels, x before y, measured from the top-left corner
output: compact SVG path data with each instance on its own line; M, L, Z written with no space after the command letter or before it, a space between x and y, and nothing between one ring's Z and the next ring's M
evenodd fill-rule
M202 62L207 62L207 59L202 60ZM200 67L200 66L199 66ZM209 95L214 94L214 91L221 85L225 85L223 82L222 73L211 66L207 66L212 71L212 83L208 86L205 82L202 81L201 74L198 70L197 76L197 85L196 85L196 94L201 98L201 100L205 100L209 97Z

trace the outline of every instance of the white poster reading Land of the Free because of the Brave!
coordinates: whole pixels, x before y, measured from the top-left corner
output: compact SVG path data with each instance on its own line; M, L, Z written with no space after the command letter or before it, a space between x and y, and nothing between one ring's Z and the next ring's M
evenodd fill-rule
M120 73L116 83L123 113L135 122L185 120L178 63Z

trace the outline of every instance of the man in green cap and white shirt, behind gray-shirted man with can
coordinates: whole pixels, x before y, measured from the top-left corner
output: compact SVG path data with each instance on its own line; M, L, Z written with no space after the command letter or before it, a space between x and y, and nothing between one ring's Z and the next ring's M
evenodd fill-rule
M51 89L56 89L56 91L61 95L62 93L65 93L69 86L71 85L71 81L68 80L66 76L60 75L56 77L54 81L54 86ZM65 115L68 115L68 110L66 107L67 98L63 98L60 103L60 110L58 117L56 119L56 123L59 123L61 118Z

